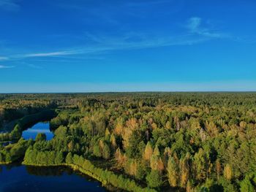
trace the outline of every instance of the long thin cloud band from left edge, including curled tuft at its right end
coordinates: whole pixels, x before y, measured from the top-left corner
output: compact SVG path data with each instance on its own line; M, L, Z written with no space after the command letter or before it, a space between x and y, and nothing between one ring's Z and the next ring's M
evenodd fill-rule
M1 0L0 0L1 1ZM119 35L106 34L90 34L87 32L84 39L89 42L87 46L72 47L63 50L55 50L39 53L25 53L20 55L10 55L9 60L23 58L43 58L43 57L72 57L72 55L102 55L116 50L136 50L154 47L169 47L182 45L195 45L201 42L206 42L211 39L226 38L227 35L215 32L206 25L203 25L202 18L189 18L183 34L145 34L140 32L127 32ZM228 37L230 38L230 37ZM8 59L0 57L0 61ZM84 59L84 58L82 58ZM33 66L31 66L33 67Z

